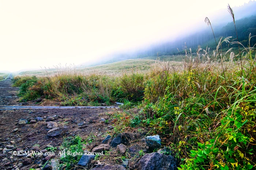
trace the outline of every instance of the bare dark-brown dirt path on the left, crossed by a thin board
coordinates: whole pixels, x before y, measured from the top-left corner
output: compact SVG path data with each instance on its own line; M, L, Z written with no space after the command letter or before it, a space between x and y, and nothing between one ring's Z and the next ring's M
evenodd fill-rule
M0 82L0 105L19 105L18 88L11 87L11 80ZM31 147L43 150L52 145L59 152L64 137L79 135L86 138L89 135L102 141L112 127L103 120L110 119L109 115L118 108L2 108L0 110L0 169L1 170L28 170L42 168L45 157L27 157L14 155L14 151L28 151ZM108 114L106 114L108 113ZM39 117L39 118L38 118ZM29 123L22 124L20 119ZM37 119L37 120L35 120ZM42 119L41 121L39 119ZM46 121L56 122L61 128L61 134L55 137L48 136ZM31 121L33 120L33 121ZM95 141L97 142L97 141ZM58 155L55 157L59 158ZM27 165L26 165L27 164ZM17 169L18 168L18 169Z

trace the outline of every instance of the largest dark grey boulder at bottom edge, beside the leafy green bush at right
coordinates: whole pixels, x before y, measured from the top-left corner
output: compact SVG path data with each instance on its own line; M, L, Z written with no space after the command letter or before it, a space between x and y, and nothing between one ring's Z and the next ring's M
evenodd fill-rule
M176 170L177 159L171 155L151 153L144 155L138 162L138 170Z

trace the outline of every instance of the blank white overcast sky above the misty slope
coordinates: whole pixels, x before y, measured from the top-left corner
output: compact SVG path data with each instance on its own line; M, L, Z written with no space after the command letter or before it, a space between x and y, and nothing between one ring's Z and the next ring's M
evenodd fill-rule
M193 31L228 3L248 1L0 0L0 70L100 60Z

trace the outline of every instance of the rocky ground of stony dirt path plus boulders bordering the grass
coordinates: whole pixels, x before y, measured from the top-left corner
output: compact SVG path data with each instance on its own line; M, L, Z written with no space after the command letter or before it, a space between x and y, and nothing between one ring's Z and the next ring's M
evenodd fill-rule
M0 82L0 105L16 105L18 88L11 81ZM91 153L108 151L95 158L83 155L72 169L93 170L174 170L177 161L161 148L158 135L127 130L114 133L112 115L122 112L117 108L52 108L0 110L0 169L3 170L58 170L59 151L63 139L79 135L90 142L83 150ZM30 151L30 154L22 153ZM43 155L31 154L39 151ZM154 152L155 151L155 152ZM21 155L15 155L16 153ZM54 155L49 155L54 153ZM61 168L65 169L65 166Z

